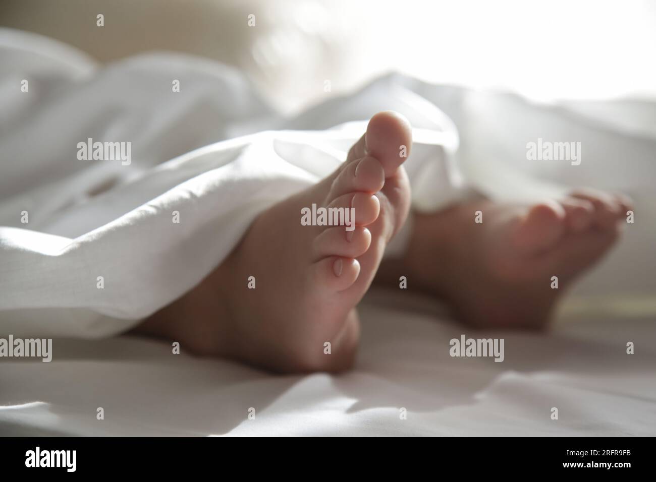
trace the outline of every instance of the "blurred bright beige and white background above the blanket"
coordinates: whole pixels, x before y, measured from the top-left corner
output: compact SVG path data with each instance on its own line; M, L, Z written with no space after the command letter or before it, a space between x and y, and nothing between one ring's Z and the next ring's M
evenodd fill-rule
M3 0L0 24L100 62L147 50L213 58L290 114L323 100L325 81L349 92L390 70L533 100L656 97L649 0Z

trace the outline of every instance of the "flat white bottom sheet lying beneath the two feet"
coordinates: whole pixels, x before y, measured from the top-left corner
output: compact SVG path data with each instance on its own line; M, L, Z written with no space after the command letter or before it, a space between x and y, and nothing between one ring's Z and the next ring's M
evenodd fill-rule
M127 336L54 340L51 363L3 361L0 433L656 435L649 321L496 333L505 338L505 360L495 363L449 357L451 338L490 333L450 323L429 300L373 291L361 318L356 367L338 376L272 376ZM635 342L634 355L626 341ZM96 420L98 407L104 420Z

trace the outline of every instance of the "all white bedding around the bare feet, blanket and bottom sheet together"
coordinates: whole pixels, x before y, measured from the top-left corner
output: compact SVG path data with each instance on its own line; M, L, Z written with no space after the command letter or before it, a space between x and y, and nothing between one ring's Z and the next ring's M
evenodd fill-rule
M398 110L416 128L407 161L415 209L457 201L467 185L516 199L564 189L527 174L628 189L644 201L645 215L653 207L640 195L651 182L656 136L649 118L627 125L607 115L615 105L565 111L392 75L284 119L239 73L194 58L157 54L100 68L47 39L0 30L0 64L1 336L125 331L217 266L258 212L335 169L364 129L344 123L379 110ZM583 162L529 165L525 144L538 137L583 141ZM77 144L88 138L131 142L131 162L77 159ZM633 169L617 169L619 156ZM653 224L638 229L642 240L655 239ZM401 249L402 235L391 251ZM626 266L626 257L618 259ZM639 266L637 276L613 272L629 280L630 292L630 280L647 279L649 267ZM613 294L617 284L611 281ZM640 287L653 293L653 283ZM358 369L338 378L271 378L172 355L157 342L58 339L52 363L0 361L0 428L474 434L487 421L484 434L647 433L632 415L653 420L655 384L646 367L654 352L644 346L640 355L626 355L628 334L592 345L508 334L504 363L463 363L445 349L462 328L400 306L405 310L365 305ZM631 336L654 340L653 329L640 326ZM547 363L559 353L570 365ZM78 388L62 390L73 380ZM566 422L549 419L554 406L565 407ZM96 421L96 407L112 416ZM244 419L249 407L259 414L256 423ZM408 420L399 419L400 407Z

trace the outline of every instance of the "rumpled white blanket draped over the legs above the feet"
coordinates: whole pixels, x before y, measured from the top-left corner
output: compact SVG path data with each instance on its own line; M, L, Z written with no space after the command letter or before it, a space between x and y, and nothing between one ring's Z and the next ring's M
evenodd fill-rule
M25 336L103 336L165 306L220 263L258 212L343 161L365 129L343 123L379 110L398 110L415 127L406 169L413 205L424 211L466 195L457 163L472 186L499 199L563 191L526 174L560 184L578 175L578 184L601 187L611 177L620 188L645 189L641 173L656 146L653 129L588 121L581 106L565 115L508 94L394 75L284 119L236 71L188 56L99 68L66 46L10 30L0 31L0 56L1 327ZM581 139L583 162L528 163L525 142L537 137ZM77 143L87 138L131 142L131 163L78 160ZM635 169L618 173L619 155ZM405 226L388 254L399 254L408 233Z

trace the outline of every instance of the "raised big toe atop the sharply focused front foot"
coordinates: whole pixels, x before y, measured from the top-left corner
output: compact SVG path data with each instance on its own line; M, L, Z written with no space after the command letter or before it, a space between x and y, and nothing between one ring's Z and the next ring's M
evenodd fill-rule
M371 155L380 161L385 177L393 176L410 155L412 129L401 114L379 112L369 121L367 132L351 148L348 159Z

